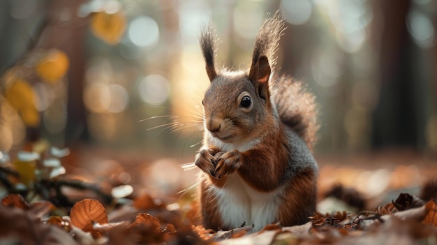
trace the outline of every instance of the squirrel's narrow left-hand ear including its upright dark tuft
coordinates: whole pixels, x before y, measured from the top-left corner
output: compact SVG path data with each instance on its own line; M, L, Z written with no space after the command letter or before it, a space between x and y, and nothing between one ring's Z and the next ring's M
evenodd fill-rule
M217 73L214 67L214 31L211 24L205 27L200 35L200 47L202 48L209 80L212 82L216 78Z

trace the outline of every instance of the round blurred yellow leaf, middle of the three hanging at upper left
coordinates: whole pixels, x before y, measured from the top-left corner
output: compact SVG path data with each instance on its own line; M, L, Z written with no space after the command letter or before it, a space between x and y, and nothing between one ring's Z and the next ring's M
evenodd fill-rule
M67 55L61 50L50 50L36 66L36 73L46 82L56 83L68 70Z

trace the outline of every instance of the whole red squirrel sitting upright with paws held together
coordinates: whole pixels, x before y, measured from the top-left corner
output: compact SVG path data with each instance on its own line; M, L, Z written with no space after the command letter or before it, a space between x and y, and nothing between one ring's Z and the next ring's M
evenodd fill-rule
M194 162L202 170L202 224L230 230L245 223L257 231L306 223L316 211L316 105L299 82L272 75L283 17L276 13L262 24L248 71L217 72L212 29L200 36L210 80Z

